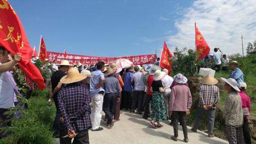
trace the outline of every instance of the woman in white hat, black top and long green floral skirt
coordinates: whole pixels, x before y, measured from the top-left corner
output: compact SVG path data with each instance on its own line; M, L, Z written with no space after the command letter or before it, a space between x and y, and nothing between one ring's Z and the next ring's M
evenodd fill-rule
M153 91L152 99L151 99L151 119L150 125L154 128L161 128L163 125L160 124L160 121L167 120L166 117L166 109L165 109L165 100L163 97L163 92L165 92L165 88L162 83L162 79L165 77L165 72L161 72L160 70L156 70L153 82L151 85L151 91ZM157 125L155 125L155 122Z

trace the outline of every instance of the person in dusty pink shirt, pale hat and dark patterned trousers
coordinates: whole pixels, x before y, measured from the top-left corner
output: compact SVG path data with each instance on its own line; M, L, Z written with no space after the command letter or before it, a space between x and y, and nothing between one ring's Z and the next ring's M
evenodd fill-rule
M173 115L174 118L174 135L171 136L171 138L174 141L178 141L178 122L180 122L183 129L184 142L188 143L186 115L190 114L192 96L190 89L184 84L188 81L185 76L178 73L174 76L174 81L178 84L172 88L169 103L169 113Z

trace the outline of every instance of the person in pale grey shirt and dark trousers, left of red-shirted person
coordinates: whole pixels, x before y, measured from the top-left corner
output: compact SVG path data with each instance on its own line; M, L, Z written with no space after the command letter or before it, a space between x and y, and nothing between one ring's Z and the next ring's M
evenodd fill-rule
M132 107L131 113L134 113L137 108L137 114L142 115L141 110L143 106L143 98L145 94L145 83L144 83L144 74L140 72L139 67L136 65L134 67L135 73L132 75L132 83L134 83L134 91L132 98Z

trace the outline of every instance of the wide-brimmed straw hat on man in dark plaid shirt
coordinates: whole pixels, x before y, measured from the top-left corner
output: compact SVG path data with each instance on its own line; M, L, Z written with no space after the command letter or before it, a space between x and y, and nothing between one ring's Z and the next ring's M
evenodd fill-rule
M76 68L72 67L67 71L67 75L61 78L60 82L68 84L68 83L82 81L86 77L87 76L85 76L84 74L79 73L79 71Z

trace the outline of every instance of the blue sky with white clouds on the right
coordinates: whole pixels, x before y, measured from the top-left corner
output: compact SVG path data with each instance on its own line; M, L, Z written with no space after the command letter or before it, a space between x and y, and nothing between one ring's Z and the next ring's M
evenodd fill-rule
M164 40L171 51L194 48L197 21L212 49L241 53L241 35L244 46L256 40L256 0L213 1L9 0L37 49L43 35L47 50L54 52L125 56L154 54L157 47L160 54Z

